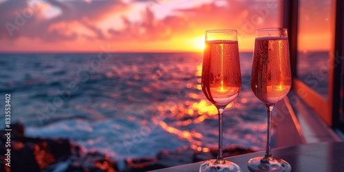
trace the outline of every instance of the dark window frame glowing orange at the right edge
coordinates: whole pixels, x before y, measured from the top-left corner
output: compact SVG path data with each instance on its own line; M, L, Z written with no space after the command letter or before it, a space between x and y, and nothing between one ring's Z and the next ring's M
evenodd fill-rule
M325 100L320 94L312 88L305 85L297 78L297 31L299 17L299 0L283 1L282 12L283 28L288 28L288 37L290 44L290 63L292 67L292 89L298 96L308 104L316 114L332 129L341 129L344 132L344 122L340 121L341 111L344 110L343 97L344 82L340 79L343 72L343 47L344 47L344 21L343 9L344 2L341 0L332 0L331 17L331 45L329 56L329 80L328 80L328 100ZM341 105L342 103L342 105Z

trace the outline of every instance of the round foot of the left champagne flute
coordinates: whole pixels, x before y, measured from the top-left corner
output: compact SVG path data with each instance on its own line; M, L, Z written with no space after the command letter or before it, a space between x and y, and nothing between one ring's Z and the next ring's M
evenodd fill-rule
M217 160L207 160L200 166L200 172L223 171L223 172L241 172L239 166L233 162L223 160L223 164L218 164Z

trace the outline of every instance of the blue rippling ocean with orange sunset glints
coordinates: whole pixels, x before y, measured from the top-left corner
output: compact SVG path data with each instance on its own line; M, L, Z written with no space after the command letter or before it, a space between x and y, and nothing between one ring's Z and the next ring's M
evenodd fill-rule
M266 146L266 107L250 89L251 61L252 53L240 53L242 88L224 111L224 147ZM69 138L114 160L217 148L200 53L0 54L0 64L11 122L23 123L27 136Z

